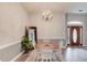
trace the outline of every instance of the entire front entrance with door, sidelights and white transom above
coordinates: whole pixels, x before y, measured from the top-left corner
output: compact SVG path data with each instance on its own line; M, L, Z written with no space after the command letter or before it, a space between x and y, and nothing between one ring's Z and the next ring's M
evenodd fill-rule
M83 45L83 23L68 22L67 24L67 45L81 46Z

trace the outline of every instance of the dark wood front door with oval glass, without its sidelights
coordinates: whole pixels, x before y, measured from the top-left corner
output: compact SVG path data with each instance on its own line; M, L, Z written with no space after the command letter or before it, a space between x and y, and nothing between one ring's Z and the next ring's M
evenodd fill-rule
M80 26L70 26L70 45L80 45Z

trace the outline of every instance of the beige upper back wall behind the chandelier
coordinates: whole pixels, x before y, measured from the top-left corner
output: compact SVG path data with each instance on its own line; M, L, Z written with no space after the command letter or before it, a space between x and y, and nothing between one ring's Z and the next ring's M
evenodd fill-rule
M44 21L42 13L30 15L31 25L37 26L39 39L65 39L65 14L53 13L51 21Z

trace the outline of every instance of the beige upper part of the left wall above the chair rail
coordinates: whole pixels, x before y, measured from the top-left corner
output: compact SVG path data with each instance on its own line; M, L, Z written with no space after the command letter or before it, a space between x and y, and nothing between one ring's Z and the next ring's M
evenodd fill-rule
M0 3L0 46L19 41L26 22L29 17L20 3Z

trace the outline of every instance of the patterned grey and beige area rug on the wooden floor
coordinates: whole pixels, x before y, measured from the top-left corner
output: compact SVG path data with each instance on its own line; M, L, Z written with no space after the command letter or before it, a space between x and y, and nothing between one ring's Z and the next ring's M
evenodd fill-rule
M57 50L35 50L28 62L61 62L61 55Z

